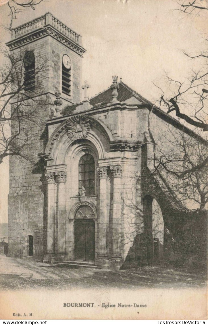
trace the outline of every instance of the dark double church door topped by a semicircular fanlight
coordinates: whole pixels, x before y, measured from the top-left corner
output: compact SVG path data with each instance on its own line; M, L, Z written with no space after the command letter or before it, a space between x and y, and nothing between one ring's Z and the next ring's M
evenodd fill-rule
M95 213L88 205L81 205L74 220L74 258L79 261L95 260Z

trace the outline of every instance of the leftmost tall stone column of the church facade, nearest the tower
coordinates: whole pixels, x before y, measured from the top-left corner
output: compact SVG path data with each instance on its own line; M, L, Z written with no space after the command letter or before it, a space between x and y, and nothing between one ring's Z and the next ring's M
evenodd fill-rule
M56 183L54 173L45 173L47 181L47 254L55 253Z

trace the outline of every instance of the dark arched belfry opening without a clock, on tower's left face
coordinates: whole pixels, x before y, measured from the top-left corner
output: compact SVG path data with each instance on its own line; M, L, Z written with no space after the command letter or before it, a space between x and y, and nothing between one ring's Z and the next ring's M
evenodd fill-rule
M24 56L24 90L35 90L35 56L32 51L27 51Z

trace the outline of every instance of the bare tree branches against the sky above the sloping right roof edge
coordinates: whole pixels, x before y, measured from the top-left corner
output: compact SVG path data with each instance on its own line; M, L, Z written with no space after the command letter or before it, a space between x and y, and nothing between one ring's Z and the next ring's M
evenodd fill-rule
M185 53L185 52L184 52ZM191 56L185 53L188 58L208 59L208 52L203 51L199 55ZM208 100L208 72L206 69L207 61L198 71L192 71L190 77L184 78L183 81L174 80L166 75L166 85L172 96L165 95L161 90L161 98L159 100L159 107L166 110L167 114L175 112L175 115L193 125L208 131L208 124L206 122L206 110Z

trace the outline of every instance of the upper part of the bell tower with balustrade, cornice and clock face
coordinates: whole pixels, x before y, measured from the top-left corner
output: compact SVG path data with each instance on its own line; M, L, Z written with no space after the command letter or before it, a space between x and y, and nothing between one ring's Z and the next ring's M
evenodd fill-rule
M55 93L59 92L65 104L81 101L81 60L85 53L81 35L48 12L12 29L6 45L15 54L21 49L31 51L36 62L47 58L43 94L55 99Z

